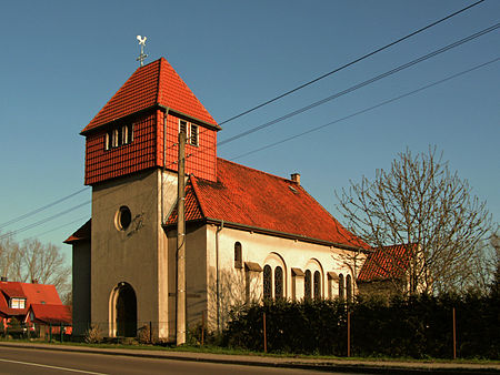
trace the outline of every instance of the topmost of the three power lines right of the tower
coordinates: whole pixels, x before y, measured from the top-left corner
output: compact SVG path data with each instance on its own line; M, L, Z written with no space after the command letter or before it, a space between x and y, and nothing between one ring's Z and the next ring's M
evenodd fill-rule
M402 42L403 40L407 40L407 39L409 39L409 38L411 38L411 37L413 37L413 36L417 36L418 33L420 33L420 32L422 32L422 31L424 31L424 30L427 30L427 29L430 29L430 28L432 28L432 27L434 27L434 26L437 26L437 24L439 24L439 23L441 23L441 22L443 22L443 21L446 21L446 20L449 20L450 18L452 18L452 17L454 17L454 16L457 16L457 14L460 14L460 13L464 12L466 10L471 9L472 7L476 7L476 6L480 4L480 3L483 2L483 1L484 1L484 0L477 1L477 2L470 4L470 6L466 7L466 8L462 8L462 9L460 9L460 10L458 10L458 11L456 11L456 12L453 12L453 13L447 16L447 17L444 17L444 18L441 18L441 19L438 20L438 21L434 21L434 22L432 22L432 23L429 23L428 26L426 26L426 27L423 27L423 28L421 28L421 29L418 29L418 30L416 30L416 31L409 33L408 36L404 36L404 37L402 37L402 38L400 38L400 39L398 39L398 40L394 40L393 42L391 42L391 43L389 43L389 44L386 44L386 45L383 45L383 47L381 47L381 48L379 48L379 49L377 49L377 50L374 50L374 51L371 51L371 52L369 52L369 53L367 53L367 54L363 54L362 57L360 57L360 58L358 58L358 59L356 59L356 60L352 60L351 62L348 62L348 63L346 63L346 64L343 64L343 65L341 65L341 67L339 67L339 68L336 68L336 69L329 71L328 73L324 73L324 74L322 74L322 75L320 75L320 77L318 77L318 78L316 78L316 79L313 79L313 80L311 80L311 81L309 81L309 82L302 83L302 84L298 85L297 88L294 88L294 89L292 89L292 90L289 90L289 91L282 93L282 94L280 94L280 95L278 95L278 97L274 97L274 98L272 98L272 99L270 99L270 100L268 100L268 101L266 101L266 102L263 102L263 103L261 103L261 104L259 104L259 105L256 105L256 107L253 107L253 108L251 108L251 109L249 109L249 110L247 110L247 111L243 111L243 112L241 112L241 113L239 113L239 114L237 114L237 115L233 115L232 118L229 118L228 120L224 120L224 121L220 122L219 125L222 125L222 124L228 123L228 122L230 122L230 121L232 121L232 120L236 120L236 119L238 119L238 118L241 118L241 116L243 116L243 115L246 115L246 114L248 114L248 113L250 113L250 112L253 112L253 111L256 111L256 110L258 110L258 109L260 109L260 108L262 108L262 107L266 107L266 105L268 105L268 104L271 104L271 103L276 102L277 100L280 100L280 99L282 99L282 98L284 98L284 97L288 97L288 95L290 95L291 93L293 93L293 92L296 92L296 91L299 91L299 90L301 90L301 89L303 89L303 88L306 88L306 87L308 87L308 85L310 85L310 84L312 84L312 83L316 83L316 82L322 80L323 78L327 78L327 77L329 77L329 75L331 75L331 74L333 74L333 73L337 73L337 72L339 72L339 71L341 71L341 70L343 70L343 69L346 69L346 68L349 68L349 67L351 67L351 65L353 65L353 64L356 64L356 63L358 63L358 62L360 62L360 61L362 61L362 60L368 59L369 57L371 57L371 55L373 55L373 54L376 54L376 53L379 53L379 52L381 52L381 51L383 51L383 50L386 50L386 49L388 49L388 48L390 48L390 47L392 47L392 45L394 45L394 44L398 44L398 43Z

